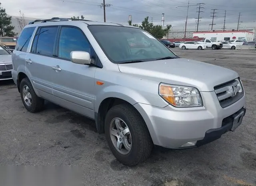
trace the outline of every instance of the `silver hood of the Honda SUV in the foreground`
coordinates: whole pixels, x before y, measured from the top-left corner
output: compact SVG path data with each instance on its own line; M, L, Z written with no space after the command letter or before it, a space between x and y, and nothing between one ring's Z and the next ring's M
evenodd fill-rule
M122 73L207 92L238 77L238 73L230 69L186 58L118 64L118 67Z

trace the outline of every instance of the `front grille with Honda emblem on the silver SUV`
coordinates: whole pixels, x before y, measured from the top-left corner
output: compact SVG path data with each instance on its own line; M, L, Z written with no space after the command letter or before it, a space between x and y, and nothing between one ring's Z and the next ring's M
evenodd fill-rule
M239 78L215 86L214 91L222 108L232 105L244 96L244 89Z

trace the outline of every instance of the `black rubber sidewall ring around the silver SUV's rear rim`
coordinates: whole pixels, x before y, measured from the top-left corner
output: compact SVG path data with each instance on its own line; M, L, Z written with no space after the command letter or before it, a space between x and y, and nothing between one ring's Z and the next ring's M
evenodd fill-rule
M26 103L25 103L25 101L23 99L23 87L24 87L24 85L28 86L30 94L31 94L31 97L32 97L32 103L31 103L30 106L26 105ZM33 89L33 87L32 87L32 85L31 85L31 83L30 83L28 78L24 78L20 82L20 97L22 99L22 103L23 103L24 107L28 111L33 112L35 110L35 108L36 108L36 98L37 98L37 95L36 95L36 93L35 93L35 91L34 91L34 89Z

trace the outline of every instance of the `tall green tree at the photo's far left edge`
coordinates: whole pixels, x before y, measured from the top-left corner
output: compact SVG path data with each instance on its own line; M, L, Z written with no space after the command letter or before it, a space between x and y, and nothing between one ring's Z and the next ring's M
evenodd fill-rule
M0 3L0 36L1 37L14 37L17 33L13 32L14 26L11 26L12 16L8 16L5 9L2 8Z

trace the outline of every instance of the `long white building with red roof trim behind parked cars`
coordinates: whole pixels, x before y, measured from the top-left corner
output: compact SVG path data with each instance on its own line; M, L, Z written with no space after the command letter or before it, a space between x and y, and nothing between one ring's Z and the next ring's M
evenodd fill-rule
M213 31L213 32L194 32L193 38L206 38L208 40L224 41L224 40L246 40L247 42L254 40L255 30L238 30L238 31Z

